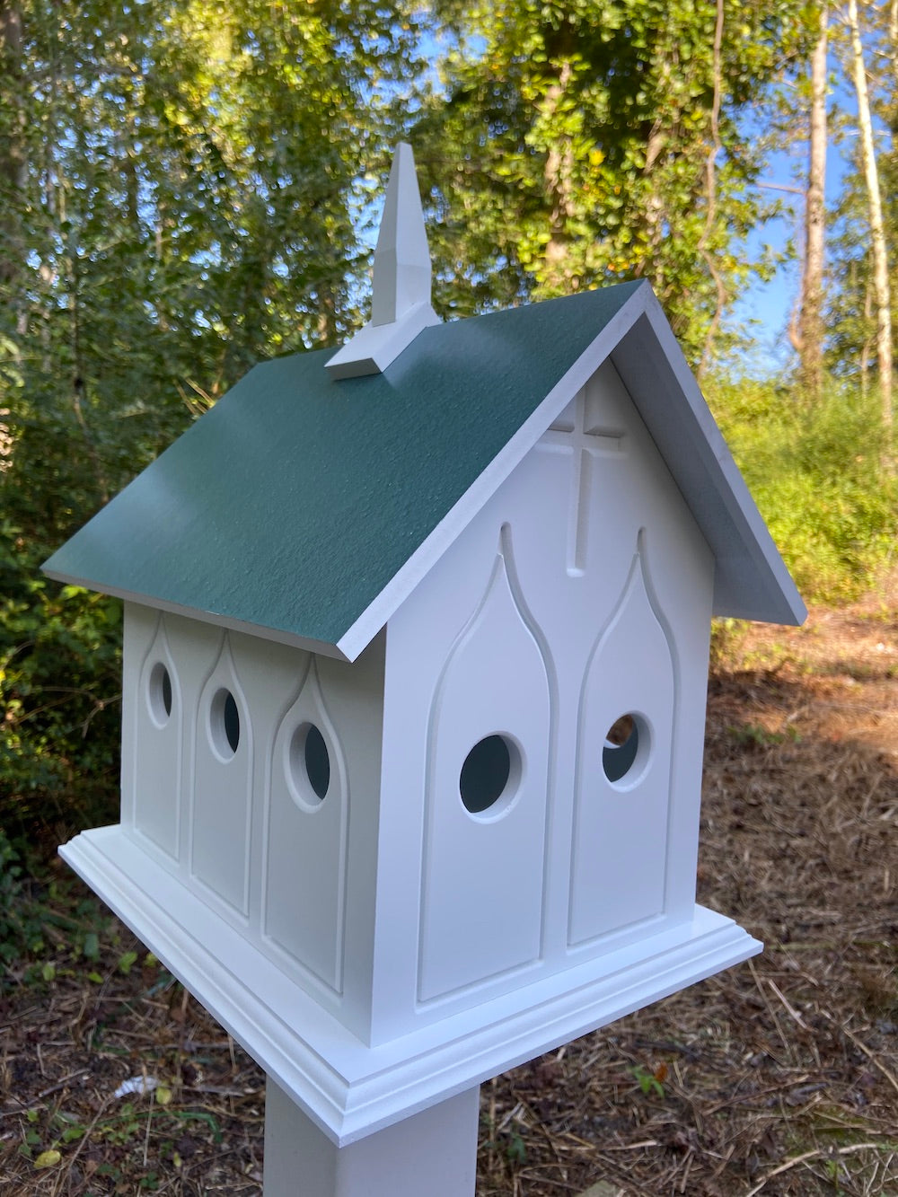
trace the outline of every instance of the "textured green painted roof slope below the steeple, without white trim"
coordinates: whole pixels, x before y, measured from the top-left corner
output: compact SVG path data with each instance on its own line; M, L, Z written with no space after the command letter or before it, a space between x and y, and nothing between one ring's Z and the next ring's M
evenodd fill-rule
M44 569L335 644L643 285L256 366Z

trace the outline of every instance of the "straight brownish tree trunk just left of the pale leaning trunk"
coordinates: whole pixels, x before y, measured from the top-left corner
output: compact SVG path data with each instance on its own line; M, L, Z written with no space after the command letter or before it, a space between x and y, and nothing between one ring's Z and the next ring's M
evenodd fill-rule
M805 269L801 279L799 354L801 381L808 399L818 400L824 366L824 260L826 242L826 55L829 8L820 8L820 34L811 57L811 124L807 199L805 201Z

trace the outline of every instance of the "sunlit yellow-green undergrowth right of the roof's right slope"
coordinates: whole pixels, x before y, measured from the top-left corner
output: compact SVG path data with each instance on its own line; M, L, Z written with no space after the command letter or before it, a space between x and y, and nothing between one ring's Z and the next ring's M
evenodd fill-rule
M875 394L832 384L808 406L772 383L717 382L711 407L806 600L869 587L894 552L898 480Z

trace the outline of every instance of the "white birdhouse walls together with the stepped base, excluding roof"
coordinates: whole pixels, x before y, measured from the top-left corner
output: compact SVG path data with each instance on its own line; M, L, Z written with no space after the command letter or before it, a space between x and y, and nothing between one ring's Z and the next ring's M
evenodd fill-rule
M324 1135L364 1138L759 949L694 904L712 590L606 363L354 663L128 606L122 827L63 855ZM172 809L138 762L175 719ZM508 774L469 809L496 737Z

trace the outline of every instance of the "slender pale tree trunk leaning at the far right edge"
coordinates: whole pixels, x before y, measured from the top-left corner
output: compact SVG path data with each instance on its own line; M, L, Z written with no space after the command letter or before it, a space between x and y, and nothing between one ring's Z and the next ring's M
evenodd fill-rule
M882 223L882 200L879 190L876 148L873 141L870 99L863 61L857 0L848 0L848 28L851 37L851 67L857 92L857 126L861 133L861 157L867 183L867 203L873 253L873 290L876 305L876 358L882 405L882 460L892 464L892 302L888 288L888 254Z

